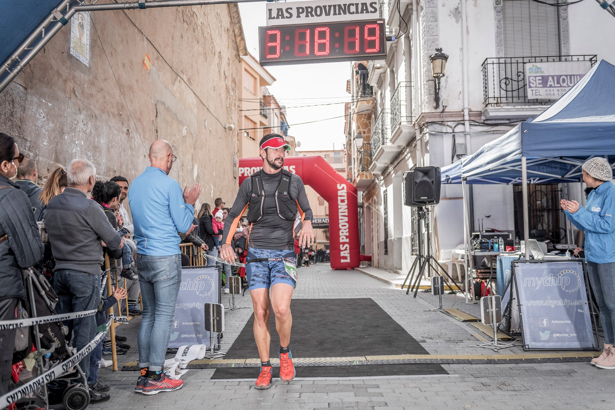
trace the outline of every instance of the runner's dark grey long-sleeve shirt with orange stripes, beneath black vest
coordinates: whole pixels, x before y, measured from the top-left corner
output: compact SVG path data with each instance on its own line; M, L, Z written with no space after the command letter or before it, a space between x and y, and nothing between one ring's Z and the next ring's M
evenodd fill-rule
M274 174L261 171L261 176L266 195L263 203L263 218L253 224L248 246L272 250L294 249L295 234L293 232L293 225L295 222L286 221L277 215L274 194L280 181L280 171ZM309 206L308 197L306 196L306 189L300 176L295 174L291 176L288 191L290 192L290 197L296 199L305 217L314 218L312 209ZM235 202L229 215L226 217L222 243L229 242L227 238L230 237L232 239L232 235L235 234L235 229L244 213L245 206L250 203L250 195L252 195L252 178L246 178L239 187ZM229 231L232 232L229 234Z

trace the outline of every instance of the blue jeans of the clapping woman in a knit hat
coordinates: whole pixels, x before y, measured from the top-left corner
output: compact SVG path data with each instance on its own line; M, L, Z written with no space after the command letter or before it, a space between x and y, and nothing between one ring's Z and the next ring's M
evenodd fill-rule
M615 262L587 262L589 283L600 309L600 323L605 331L605 343L615 343Z

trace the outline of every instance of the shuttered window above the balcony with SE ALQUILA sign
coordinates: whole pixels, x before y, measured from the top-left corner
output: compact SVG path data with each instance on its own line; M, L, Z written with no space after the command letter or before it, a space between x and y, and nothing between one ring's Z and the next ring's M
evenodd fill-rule
M560 55L558 9L530 0L502 0L504 57Z

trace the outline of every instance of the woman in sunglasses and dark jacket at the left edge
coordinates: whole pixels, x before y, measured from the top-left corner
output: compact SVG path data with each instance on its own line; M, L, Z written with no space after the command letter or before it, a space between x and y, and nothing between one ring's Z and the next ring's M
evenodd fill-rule
M22 269L34 266L43 250L30 199L10 181L22 161L15 140L0 133L0 320L17 318L18 303L26 301ZM15 329L0 330L0 346L1 396L10 388Z

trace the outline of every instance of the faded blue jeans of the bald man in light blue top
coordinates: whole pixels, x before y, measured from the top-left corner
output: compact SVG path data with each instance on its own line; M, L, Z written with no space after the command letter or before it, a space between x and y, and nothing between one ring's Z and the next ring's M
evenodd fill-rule
M160 371L175 318L175 302L181 283L181 256L137 253L137 270L143 300L143 317L137 336L138 366Z

